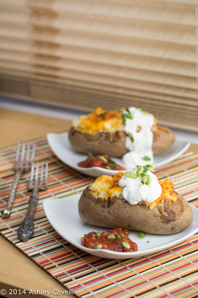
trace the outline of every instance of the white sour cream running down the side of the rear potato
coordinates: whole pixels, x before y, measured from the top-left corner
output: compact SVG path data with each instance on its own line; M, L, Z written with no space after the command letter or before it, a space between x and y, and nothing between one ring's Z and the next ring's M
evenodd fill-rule
M134 167L136 164L146 165L148 160L150 164L153 164L151 128L154 124L154 116L135 107L130 107L127 110L123 114L130 113L132 116L131 118L126 117L124 126L124 131L128 134L125 146L129 152L123 155L122 162L127 167Z

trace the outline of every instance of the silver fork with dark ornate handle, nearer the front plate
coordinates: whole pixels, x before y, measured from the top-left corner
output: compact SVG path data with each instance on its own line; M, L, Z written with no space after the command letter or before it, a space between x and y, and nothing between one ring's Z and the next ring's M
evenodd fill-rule
M48 183L48 163L45 165L45 177L43 176L44 166L41 164L40 179L39 179L39 163L37 162L34 179L34 163L31 167L31 176L28 190L32 190L32 195L29 198L28 210L24 220L21 222L17 235L23 242L28 241L34 235L34 210L38 203L39 190L46 190Z

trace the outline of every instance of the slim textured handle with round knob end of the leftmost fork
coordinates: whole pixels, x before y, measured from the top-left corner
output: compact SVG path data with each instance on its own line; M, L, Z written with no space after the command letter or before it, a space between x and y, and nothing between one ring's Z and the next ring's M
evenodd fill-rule
M17 185L19 183L20 180L20 176L22 175L23 170L17 170L15 173L15 177L14 180L12 182L12 187L9 193L9 199L7 202L7 206L6 209L2 211L2 217L3 218L8 218L10 215L10 210L12 209L12 204L14 202L15 199L15 193L16 193L16 189L17 189Z

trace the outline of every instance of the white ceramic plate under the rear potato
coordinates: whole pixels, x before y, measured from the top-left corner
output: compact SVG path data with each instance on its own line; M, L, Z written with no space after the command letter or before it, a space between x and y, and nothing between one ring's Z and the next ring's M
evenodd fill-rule
M69 165L73 169L86 174L88 176L99 177L101 175L115 175L118 173L116 170L107 170L100 167L81 168L78 167L78 162L81 162L87 158L88 155L75 151L69 143L68 133L59 134L47 134L47 142L52 149L53 153L65 164ZM183 152L185 152L190 146L190 143L185 143L176 140L172 148L165 153L156 155L154 157L153 166L161 166L165 163L171 162ZM119 158L112 158L116 163L124 166L122 160ZM124 166L125 167L125 166ZM128 168L127 170L132 170Z

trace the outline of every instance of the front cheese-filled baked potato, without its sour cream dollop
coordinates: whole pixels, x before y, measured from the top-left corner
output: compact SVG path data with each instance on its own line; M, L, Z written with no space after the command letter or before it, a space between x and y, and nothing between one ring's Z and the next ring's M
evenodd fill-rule
M192 208L173 190L172 181L159 182L162 193L155 201L132 205L123 198L124 187L118 184L123 175L121 172L115 176L103 175L83 191L78 202L83 221L95 226L160 235L178 233L191 225Z

